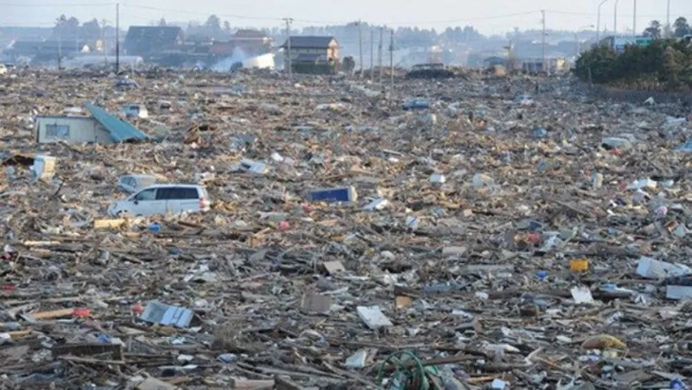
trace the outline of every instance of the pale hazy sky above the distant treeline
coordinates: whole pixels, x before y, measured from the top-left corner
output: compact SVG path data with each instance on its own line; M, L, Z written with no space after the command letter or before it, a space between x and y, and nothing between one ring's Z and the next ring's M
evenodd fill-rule
M210 14L228 20L231 26L283 26L283 17L295 19L294 26L342 24L362 19L388 26L417 25L444 29L472 25L484 34L504 33L514 26L538 29L541 9L546 9L548 29L579 29L596 24L602 0L492 0L492 1L395 1L395 0L133 0L121 2L121 26L148 24L162 16L168 21L203 21ZM619 1L618 29L631 29L633 1ZM601 29L613 28L616 0L606 0L601 11ZM0 26L51 26L60 14L80 21L96 17L114 23L115 4L109 0L17 0L2 1ZM652 19L666 21L666 1L637 1L637 30ZM692 0L671 0L671 23L677 16L692 21ZM240 16L240 17L239 17ZM254 19L257 18L257 19Z

